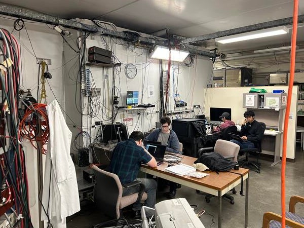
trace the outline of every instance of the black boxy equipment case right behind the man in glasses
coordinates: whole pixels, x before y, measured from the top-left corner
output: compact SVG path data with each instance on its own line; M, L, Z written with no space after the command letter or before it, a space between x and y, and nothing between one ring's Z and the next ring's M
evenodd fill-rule
M193 125L194 122L202 122L205 126L205 120L203 119L176 119L172 120L172 130L176 133L177 136L194 138L197 136L197 130Z

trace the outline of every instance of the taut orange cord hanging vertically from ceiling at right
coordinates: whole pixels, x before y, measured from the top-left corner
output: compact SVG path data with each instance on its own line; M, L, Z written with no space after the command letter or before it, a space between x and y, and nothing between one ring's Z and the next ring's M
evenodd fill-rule
M294 80L295 68L295 46L296 46L296 33L297 33L297 17L298 17L298 0L293 3L293 22L292 22L292 39L291 39L291 57L290 57L290 79L288 85L286 113L284 118L284 133L283 133L283 152L282 152L282 169L281 169L281 207L282 207L282 227L286 227L285 216L285 169L286 169L286 148L287 148L287 135L288 135L288 121L290 113L290 103L292 95L292 86Z

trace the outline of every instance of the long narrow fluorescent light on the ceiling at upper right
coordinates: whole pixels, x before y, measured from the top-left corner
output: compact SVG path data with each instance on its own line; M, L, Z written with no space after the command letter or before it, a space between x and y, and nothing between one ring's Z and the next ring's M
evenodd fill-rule
M215 39L215 42L221 43L221 44L228 44L238 41L247 41L252 39L257 39L261 37L267 37L272 35L281 35L286 34L289 32L289 29L285 26L275 27L275 28L265 28L261 30L251 31L251 32L245 32L235 35L229 35L224 37L219 37Z

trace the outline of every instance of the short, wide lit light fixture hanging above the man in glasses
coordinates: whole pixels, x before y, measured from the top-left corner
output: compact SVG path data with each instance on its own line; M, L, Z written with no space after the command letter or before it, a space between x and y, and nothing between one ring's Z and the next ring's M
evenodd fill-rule
M169 60L169 48L163 46L155 46L150 54L150 58ZM189 52L171 49L171 61L182 62L188 56Z

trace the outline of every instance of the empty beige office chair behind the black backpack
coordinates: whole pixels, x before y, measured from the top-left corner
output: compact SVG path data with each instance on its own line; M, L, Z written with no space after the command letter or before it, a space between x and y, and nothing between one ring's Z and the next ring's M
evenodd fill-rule
M223 139L218 139L216 140L215 146L214 148L212 147L206 147L206 148L200 148L198 150L198 158L203 154L206 153L210 150L213 150L214 152L222 155L223 157L227 158L227 159L232 159L235 162L238 162L238 154L239 154L239 150L240 150L240 146L236 143L230 142L230 141L226 141ZM199 191L197 191L199 192ZM232 189L232 193L236 194L237 191L235 188ZM205 196L205 200L207 203L210 202L210 199L214 197L211 194L207 194ZM228 194L224 194L222 197L229 199L231 204L234 204L234 198L231 195Z

